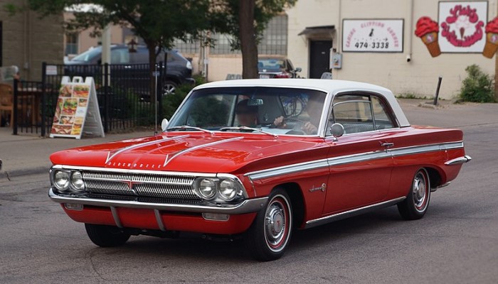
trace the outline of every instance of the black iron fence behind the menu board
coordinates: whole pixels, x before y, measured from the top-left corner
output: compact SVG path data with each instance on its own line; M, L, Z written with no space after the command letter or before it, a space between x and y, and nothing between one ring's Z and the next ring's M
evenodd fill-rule
M49 65L43 63L41 82L14 80L14 135L50 133L61 80L93 77L104 131L151 126L161 116L162 62L154 67L133 65ZM47 72L48 71L48 72ZM151 89L153 92L151 92ZM157 99L154 99L154 90ZM157 102L157 103L156 103Z

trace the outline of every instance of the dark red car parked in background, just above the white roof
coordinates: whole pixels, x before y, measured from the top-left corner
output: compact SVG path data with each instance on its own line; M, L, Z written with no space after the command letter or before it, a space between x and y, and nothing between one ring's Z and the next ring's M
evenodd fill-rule
M270 78L298 78L297 72L301 68L294 68L288 58L260 57L258 58L258 73L260 79Z

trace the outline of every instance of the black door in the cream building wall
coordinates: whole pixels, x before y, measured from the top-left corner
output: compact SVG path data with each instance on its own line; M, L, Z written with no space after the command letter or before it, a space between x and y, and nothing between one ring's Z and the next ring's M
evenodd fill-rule
M309 42L309 77L319 79L323 72L329 72L329 54L332 40L311 40Z

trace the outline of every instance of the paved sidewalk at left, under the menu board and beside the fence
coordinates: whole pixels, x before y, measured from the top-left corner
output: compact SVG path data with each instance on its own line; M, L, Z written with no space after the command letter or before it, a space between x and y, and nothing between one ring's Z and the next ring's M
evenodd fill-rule
M51 167L49 156L60 150L79 146L152 136L154 131L140 131L106 135L104 138L40 138L36 134L12 135L12 129L0 127L0 178L47 173Z

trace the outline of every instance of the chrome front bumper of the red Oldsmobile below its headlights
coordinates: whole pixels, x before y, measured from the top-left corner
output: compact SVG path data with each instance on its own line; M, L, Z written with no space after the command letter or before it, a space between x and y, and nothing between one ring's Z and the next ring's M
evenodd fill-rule
M58 203L73 203L83 205L93 205L101 207L127 207L127 208L144 208L157 209L164 211L178 212L198 212L198 213L221 213L221 214L245 214L258 212L267 202L268 197L253 198L244 200L238 204L208 204L189 205L189 204L169 204L169 203L149 203L127 200L99 200L88 197L67 197L56 195L52 189L48 191L48 197ZM114 217L114 215L113 215ZM119 220L119 217L118 217ZM116 224L117 225L117 224Z

